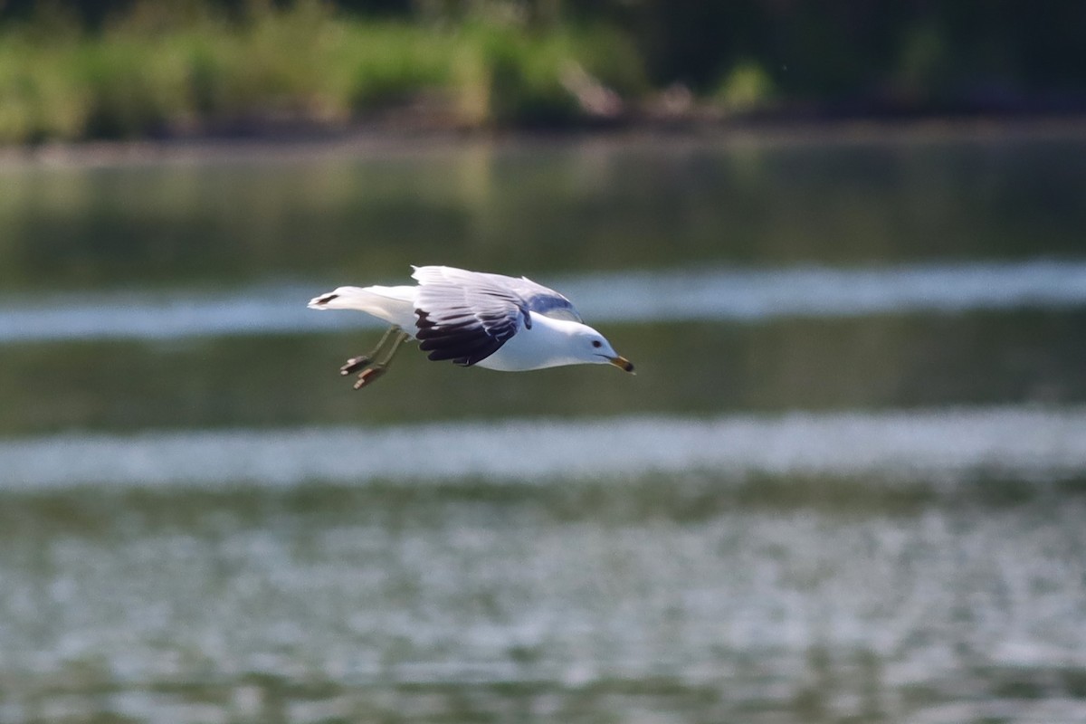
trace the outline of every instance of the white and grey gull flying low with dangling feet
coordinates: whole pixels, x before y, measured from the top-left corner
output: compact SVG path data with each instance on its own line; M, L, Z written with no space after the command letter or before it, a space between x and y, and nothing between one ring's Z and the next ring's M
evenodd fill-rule
M433 360L451 359L522 372L564 365L614 365L633 373L603 334L581 320L565 296L527 277L416 266L413 287L340 287L310 301L311 309L356 309L387 321L372 352L346 360L355 390L383 374L400 346L415 339Z

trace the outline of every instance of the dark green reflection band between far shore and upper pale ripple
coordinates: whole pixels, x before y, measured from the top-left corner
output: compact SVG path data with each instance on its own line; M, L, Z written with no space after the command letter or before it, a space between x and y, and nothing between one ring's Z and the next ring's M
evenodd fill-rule
M0 283L72 289L1078 257L1082 135L464 143L0 168ZM544 274L545 272L545 274ZM305 296L304 299L308 299Z

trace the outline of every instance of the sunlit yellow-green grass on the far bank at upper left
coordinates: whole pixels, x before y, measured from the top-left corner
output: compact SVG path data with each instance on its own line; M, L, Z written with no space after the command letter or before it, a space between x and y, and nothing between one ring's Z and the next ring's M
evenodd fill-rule
M0 143L336 126L406 104L444 125L560 125L645 85L605 28L147 3L94 33L56 18L0 30Z

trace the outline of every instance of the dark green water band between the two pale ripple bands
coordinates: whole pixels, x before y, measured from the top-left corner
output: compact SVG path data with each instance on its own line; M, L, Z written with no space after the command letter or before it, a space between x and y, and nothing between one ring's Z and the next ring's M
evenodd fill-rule
M408 346L362 392L338 368L376 330L12 345L0 431L1075 404L1086 401L1084 325L1078 310L623 325L609 336L635 378L460 369Z

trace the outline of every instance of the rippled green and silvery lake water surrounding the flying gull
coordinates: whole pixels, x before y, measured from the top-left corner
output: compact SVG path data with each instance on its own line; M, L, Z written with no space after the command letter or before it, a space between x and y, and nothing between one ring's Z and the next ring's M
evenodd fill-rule
M0 724L1086 721L1086 138L0 166ZM637 366L305 309L525 274Z

